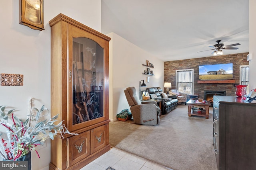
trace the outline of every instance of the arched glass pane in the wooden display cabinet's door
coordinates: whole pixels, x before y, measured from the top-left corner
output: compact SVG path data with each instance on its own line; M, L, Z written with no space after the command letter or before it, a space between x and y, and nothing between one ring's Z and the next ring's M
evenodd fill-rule
M73 38L73 125L103 116L104 49L89 38Z

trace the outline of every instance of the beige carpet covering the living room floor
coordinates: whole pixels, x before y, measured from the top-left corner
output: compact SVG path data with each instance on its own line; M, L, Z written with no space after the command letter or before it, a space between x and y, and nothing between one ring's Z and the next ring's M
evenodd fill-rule
M188 106L178 105L154 126L110 122L110 145L173 170L217 170L212 107L209 119L187 113Z

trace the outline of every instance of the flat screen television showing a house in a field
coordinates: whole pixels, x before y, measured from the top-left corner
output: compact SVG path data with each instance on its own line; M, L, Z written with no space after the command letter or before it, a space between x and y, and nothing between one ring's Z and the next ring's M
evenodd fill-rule
M199 66L199 80L232 80L233 63Z

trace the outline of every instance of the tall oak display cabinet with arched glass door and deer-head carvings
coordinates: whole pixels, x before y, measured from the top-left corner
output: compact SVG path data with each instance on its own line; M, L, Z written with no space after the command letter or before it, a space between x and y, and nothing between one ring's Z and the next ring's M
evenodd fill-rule
M63 14L51 26L51 113L68 131L54 137L50 170L77 170L108 150L110 37ZM58 123L56 122L56 123Z

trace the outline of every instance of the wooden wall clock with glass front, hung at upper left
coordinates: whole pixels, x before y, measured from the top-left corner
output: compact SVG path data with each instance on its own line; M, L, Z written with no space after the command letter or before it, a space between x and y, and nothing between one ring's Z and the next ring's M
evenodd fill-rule
M20 24L44 30L44 0L19 0Z

